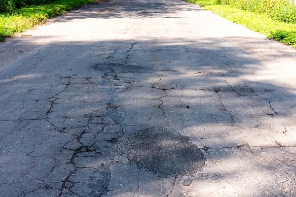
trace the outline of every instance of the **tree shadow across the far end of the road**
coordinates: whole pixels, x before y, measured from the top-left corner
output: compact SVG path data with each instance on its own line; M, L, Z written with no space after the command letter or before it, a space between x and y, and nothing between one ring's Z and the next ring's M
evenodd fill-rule
M103 0L94 4L85 5L79 10L68 13L65 16L57 17L55 22L67 22L75 19L116 19L116 18L181 18L177 13L188 11L201 11L199 6L185 6L178 1L127 1L114 2L112 0Z

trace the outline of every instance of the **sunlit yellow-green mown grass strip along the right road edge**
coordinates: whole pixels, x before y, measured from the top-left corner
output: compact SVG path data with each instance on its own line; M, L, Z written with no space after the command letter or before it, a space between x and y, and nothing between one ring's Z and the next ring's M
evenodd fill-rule
M293 45L296 48L296 24L281 22L269 18L265 14L222 5L219 4L218 0L185 1L199 4L233 23L241 24L255 32L264 34L270 39L280 41L283 44Z

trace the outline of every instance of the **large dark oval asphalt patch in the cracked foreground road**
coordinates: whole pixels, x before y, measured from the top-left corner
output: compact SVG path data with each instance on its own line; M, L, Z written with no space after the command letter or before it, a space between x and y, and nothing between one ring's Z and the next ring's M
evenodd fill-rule
M193 175L202 170L205 158L201 150L179 132L148 128L125 135L119 147L130 164L160 177Z

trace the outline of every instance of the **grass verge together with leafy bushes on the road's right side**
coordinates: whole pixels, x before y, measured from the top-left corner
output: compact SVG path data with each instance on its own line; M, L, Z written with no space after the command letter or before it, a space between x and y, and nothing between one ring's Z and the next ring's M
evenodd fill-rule
M244 25L245 27L262 33L270 39L280 41L284 44L293 45L296 48L296 13L294 12L278 12L285 16L275 14L278 9L286 9L286 7L275 6L272 3L261 5L264 1L275 0L185 0L203 6L211 10L227 20ZM236 2L235 2L236 1ZM239 3L244 1L245 4ZM279 0L281 1L281 0ZM287 1L286 1L287 3ZM244 6L243 6L244 5ZM291 10L295 9L295 5L287 5ZM289 9L290 9L289 8ZM261 10L261 11L259 11ZM264 11L265 10L265 11ZM269 10L269 11L267 11ZM270 11L271 10L271 11ZM273 11L272 11L273 10ZM290 19L288 19L290 17ZM294 22L293 22L294 20Z

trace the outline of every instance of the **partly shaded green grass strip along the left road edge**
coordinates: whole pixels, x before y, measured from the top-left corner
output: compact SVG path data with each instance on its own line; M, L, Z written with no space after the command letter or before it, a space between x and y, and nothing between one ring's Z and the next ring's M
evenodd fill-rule
M63 14L77 6L93 1L95 0L55 0L50 3L32 5L10 13L0 14L0 41L3 41L7 36L31 29L50 17Z

